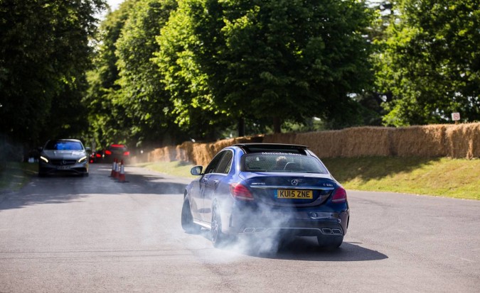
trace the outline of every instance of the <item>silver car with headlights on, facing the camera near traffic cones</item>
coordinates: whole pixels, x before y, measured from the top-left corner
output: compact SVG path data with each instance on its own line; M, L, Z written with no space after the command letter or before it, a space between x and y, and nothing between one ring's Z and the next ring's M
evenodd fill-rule
M89 151L77 139L48 140L41 148L38 176L56 172L88 176Z

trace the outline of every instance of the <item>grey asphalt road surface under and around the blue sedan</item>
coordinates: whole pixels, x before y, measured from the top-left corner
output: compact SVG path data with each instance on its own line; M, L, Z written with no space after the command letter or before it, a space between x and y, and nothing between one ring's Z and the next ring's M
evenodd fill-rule
M216 249L181 229L188 179L90 167L0 194L0 292L479 292L480 201L348 191L338 250Z

